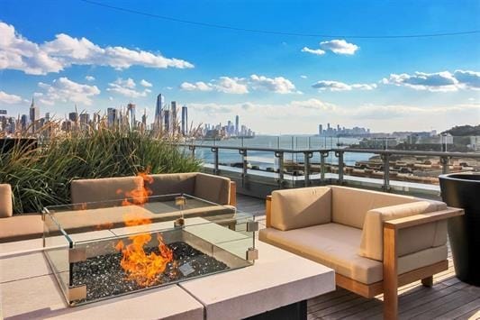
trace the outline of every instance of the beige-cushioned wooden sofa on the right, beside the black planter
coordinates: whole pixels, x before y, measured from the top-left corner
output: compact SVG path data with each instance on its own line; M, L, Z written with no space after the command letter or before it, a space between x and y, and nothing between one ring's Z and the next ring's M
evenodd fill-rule
M384 317L398 315L397 288L448 269L443 202L351 187L278 190L267 197L259 240L331 267L336 284L363 297L384 293Z

